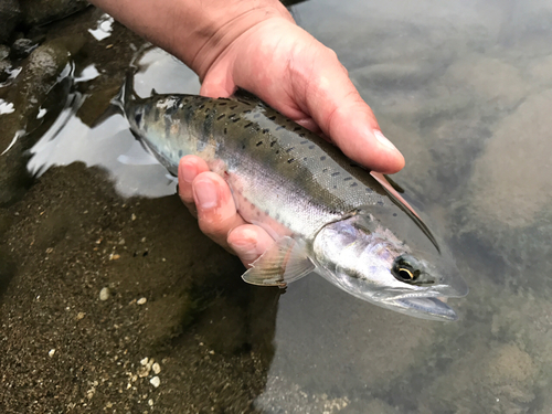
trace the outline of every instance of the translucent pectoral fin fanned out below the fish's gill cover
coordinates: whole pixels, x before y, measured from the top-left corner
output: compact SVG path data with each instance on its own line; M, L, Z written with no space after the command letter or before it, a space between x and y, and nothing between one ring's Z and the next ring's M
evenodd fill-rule
M242 279L252 285L279 286L300 279L315 269L301 243L291 237L282 237L252 263L252 268Z

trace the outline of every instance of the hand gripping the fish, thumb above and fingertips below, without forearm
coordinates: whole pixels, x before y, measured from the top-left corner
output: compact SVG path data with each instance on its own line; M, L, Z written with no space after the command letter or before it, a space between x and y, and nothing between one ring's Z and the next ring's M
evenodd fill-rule
M404 167L333 51L290 18L270 15L250 25L252 20L233 22L229 32L240 34L214 60L197 55L192 66L203 78L202 95L227 97L243 87L371 170L391 173ZM244 222L227 184L198 157L180 161L179 194L197 212L201 230L246 266L274 242L263 229Z

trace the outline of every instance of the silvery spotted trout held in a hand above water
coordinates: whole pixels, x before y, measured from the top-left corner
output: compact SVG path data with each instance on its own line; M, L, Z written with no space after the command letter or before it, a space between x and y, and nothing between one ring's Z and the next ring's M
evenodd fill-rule
M429 320L456 320L467 295L453 256L385 177L238 89L230 98L119 93L131 132L177 176L202 158L230 185L242 217L274 244L242 278L285 287L316 273L346 293Z

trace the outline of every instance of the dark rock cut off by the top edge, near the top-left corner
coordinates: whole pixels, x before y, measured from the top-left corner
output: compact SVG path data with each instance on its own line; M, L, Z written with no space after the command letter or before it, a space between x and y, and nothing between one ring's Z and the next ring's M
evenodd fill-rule
M36 25L65 18L88 7L85 0L25 0L23 21L28 25Z

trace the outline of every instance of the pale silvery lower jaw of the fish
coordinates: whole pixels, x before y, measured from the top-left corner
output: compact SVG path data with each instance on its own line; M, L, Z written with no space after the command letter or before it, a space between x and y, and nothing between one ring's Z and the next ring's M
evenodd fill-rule
M435 297L404 297L385 300L385 306L401 314L429 320L454 321L458 316L444 301Z

